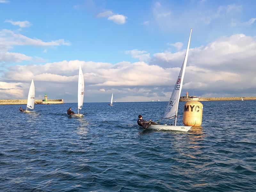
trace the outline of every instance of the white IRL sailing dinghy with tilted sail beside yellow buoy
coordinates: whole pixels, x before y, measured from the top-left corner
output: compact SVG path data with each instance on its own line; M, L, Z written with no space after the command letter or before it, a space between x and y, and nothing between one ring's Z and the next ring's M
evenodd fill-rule
M191 33L192 33L192 29L190 30L190 35L189 35L189 39L188 39L188 47L186 50L185 59L183 61L181 69L180 69L180 74L178 76L178 79L177 79L174 89L172 91L172 95L168 102L168 105L165 109L164 116L162 117L162 119L167 119L167 121L168 121L168 119L175 118L175 125L157 124L157 125L151 125L150 127L148 127L148 129L188 132L188 130L191 128L191 126L177 126L176 125L180 93L181 93L183 78L184 78L185 69L186 69L187 61L188 61L188 51L189 51Z

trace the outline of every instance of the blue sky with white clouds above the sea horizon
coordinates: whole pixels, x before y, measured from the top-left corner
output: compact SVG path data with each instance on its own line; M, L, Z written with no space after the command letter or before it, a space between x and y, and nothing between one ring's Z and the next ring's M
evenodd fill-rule
M256 1L0 0L0 99L168 101L256 96Z

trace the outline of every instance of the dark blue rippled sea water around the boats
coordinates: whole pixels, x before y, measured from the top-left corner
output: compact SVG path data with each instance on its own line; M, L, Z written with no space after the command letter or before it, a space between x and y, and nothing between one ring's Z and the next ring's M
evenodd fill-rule
M202 103L189 132L139 128L167 102L1 105L0 191L255 191L256 101Z

